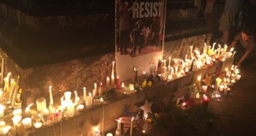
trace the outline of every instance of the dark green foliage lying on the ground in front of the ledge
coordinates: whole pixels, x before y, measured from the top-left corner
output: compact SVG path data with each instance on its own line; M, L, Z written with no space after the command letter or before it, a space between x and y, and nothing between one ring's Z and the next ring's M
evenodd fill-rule
M152 123L163 133L169 134L199 134L206 132L207 122L214 114L202 106L189 106L185 110L171 106L169 111L154 114Z

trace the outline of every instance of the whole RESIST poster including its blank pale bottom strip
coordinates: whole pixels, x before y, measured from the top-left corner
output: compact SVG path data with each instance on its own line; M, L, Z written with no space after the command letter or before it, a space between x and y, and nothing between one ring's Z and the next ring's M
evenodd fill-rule
M120 81L162 59L166 0L115 0L115 59Z

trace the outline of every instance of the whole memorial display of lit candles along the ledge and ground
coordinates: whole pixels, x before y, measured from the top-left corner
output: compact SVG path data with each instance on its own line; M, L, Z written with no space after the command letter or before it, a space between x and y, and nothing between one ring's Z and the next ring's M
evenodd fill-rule
M225 61L227 58L234 57L235 51L234 49L231 49L227 51L227 46L221 46L218 45L217 50L214 49L215 44L213 46L203 46L202 53L199 51L200 49L194 49L193 46L190 47L190 54L186 54L185 58L173 58L171 56L168 56L168 59L160 59L159 66L158 66L158 72L160 72L162 80L160 81L167 81L170 82L172 80L175 80L177 78L182 78L182 76L189 75L194 70L200 70L202 68L206 68L206 66L214 64L215 60ZM3 61L2 58L2 70L3 73ZM168 65L167 65L168 64ZM106 81L95 81L95 83L91 86L88 86L87 90L90 92L87 92L86 87L83 87L81 91L76 90L70 90L70 91L64 91L62 93L62 98L59 101L56 101L54 97L56 97L53 94L56 94L54 90L52 90L52 86L46 87L48 91L46 91L46 96L38 96L38 98L35 100L35 106L33 106L33 102L31 103L25 103L27 106L22 107L22 100L21 100L21 94L22 89L20 89L19 84L19 76L14 77L13 74L2 74L1 73L1 82L4 86L3 89L0 89L0 118L5 117L5 110L6 110L6 101L10 102L10 106L12 106L12 109L8 109L8 114L11 115L11 120L13 121L13 124L8 124L11 126L7 126L3 122L0 122L0 135L6 135L9 133L11 127L14 126L20 127L23 126L25 130L29 130L34 126L34 129L39 129L42 126L48 126L52 125L55 122L58 122L62 120L62 118L70 118L75 116L76 114L82 114L84 111L84 108L91 109L94 105L97 106L103 106L103 104L95 105L94 102L100 101L103 103L103 98L105 91L109 90L110 87L113 87L115 90L123 90L126 91L127 94L136 93L138 89L145 88L146 86L152 86L152 84L156 81L154 78L155 72L156 72L156 66L154 62L150 62L149 71L148 74L146 74L145 71L143 71L142 80L140 80L140 76L138 75L139 69L138 66L134 66L132 69L131 74L131 82L126 82L125 86L124 82L119 81L119 76L115 75L115 62L112 62L112 70L111 74L108 75L110 77L103 77L103 79ZM230 70L229 70L230 68ZM141 68L140 68L141 69ZM142 68L145 70L145 68ZM148 68L146 68L148 70ZM191 71L191 72L190 72ZM220 94L227 95L230 92L229 86L237 82L241 79L240 70L238 70L237 66L228 67L225 70L224 77L218 77L215 82L215 87L219 90L216 91L218 94L211 94L211 98L219 98ZM159 74L159 73L158 73ZM4 77L6 75L6 77ZM198 74L196 74L198 75ZM200 74L201 75L201 74ZM147 77L149 76L149 77ZM202 77L204 75L202 74ZM198 89L202 89L202 92L195 91L193 92L193 98L198 98L199 101L202 98L202 106L208 107L208 103L210 102L210 98L206 96L208 86L202 86L202 78L201 76L194 77L195 84L197 85ZM98 82L98 83L96 83ZM100 83L99 83L100 82ZM122 82L122 84L121 84ZM52 82L51 82L52 83ZM157 84L156 84L157 85ZM140 88L139 88L140 87ZM136 89L135 89L136 88ZM93 90L93 91L91 91ZM146 89L145 89L146 90ZM209 89L210 90L210 89ZM72 97L72 93L74 92L74 95ZM4 95L8 93L7 95ZM87 95L87 93L89 95ZM82 98L82 104L79 102L79 94ZM92 95L93 94L93 95ZM201 97L202 96L202 97ZM3 98L7 97L7 98ZM45 97L45 98L44 98ZM72 100L73 98L73 100ZM99 99L100 98L100 99ZM54 101L55 100L55 101ZM94 101L96 100L96 101ZM105 98L104 98L105 100ZM198 101L198 102L199 102ZM58 102L61 102L61 105L58 106ZM47 105L46 105L47 104ZM187 105L186 102L182 103L182 106L185 107ZM47 107L49 106L49 107ZM30 108L34 108L35 110L30 110ZM23 114L22 114L23 110ZM79 112L78 112L79 111ZM33 113L33 114L32 114ZM84 113L83 113L84 114ZM59 118L61 116L61 118ZM32 119L33 118L33 119ZM34 119L36 118L36 119ZM56 119L57 118L57 119ZM117 130L115 132L116 135L122 134L122 118L118 119L118 126ZM133 124L134 118L130 119L130 135L133 134ZM3 124L3 125L1 125ZM15 131L15 134L18 132L16 129L13 129ZM101 130L102 131L102 130ZM142 130L142 132L146 132L146 130ZM100 130L94 130L94 135L101 135ZM107 135L113 135L113 134L107 134Z

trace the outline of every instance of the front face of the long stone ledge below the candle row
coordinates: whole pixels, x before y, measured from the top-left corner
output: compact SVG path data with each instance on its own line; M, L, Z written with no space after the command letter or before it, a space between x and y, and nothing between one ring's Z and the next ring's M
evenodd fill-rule
M105 106L94 106L90 110L83 110L81 113L75 115L73 118L57 122L54 126L45 126L39 130L30 130L24 132L20 128L20 133L25 135L38 136L38 135L91 135L92 127L98 126L102 130L102 116L104 113L104 132L113 130L117 125L114 121L115 118L119 118L123 115L123 108L125 105L131 106L131 110L138 110L138 107L134 106L135 103L143 102L146 98L154 99L154 102L162 102L163 98L171 97L174 91L178 90L179 86L187 86L198 75L202 77L206 72L215 73L217 67L220 71L224 71L226 66L231 66L234 59L230 58L226 62L216 62L214 66L206 66L200 70L194 70L186 76L177 78L165 83L154 82L153 86L146 87L145 90L139 91L136 94L130 96L124 96L122 90L117 90L114 98L106 101ZM154 109L154 106L152 107ZM104 110L104 111L103 111ZM80 132L79 132L80 131Z

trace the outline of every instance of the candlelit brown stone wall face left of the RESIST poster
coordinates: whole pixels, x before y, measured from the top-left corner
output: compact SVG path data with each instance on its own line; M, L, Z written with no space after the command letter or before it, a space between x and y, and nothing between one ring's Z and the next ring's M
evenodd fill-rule
M110 77L114 61L114 53L110 53L22 70L3 51L1 54L5 58L4 75L11 72L14 78L20 76L23 107L39 97L48 99L49 86L53 87L56 100L60 100L63 92L67 90L77 90L82 95L82 87L86 86L87 90L92 91L94 82L105 83L106 77Z

